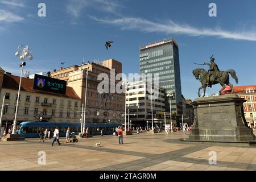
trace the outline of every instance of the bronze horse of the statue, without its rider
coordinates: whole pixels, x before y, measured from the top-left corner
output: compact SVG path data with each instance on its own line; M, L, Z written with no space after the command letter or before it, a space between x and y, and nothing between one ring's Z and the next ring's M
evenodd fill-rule
M209 78L210 84L215 85L215 84L220 84L222 86L222 89L218 92L221 94L222 90L226 88L226 85L229 85L231 88L231 92L233 93L233 85L229 82L229 74L234 78L236 83L238 84L238 78L236 76L236 72L234 69L229 69L228 71L220 71L218 73L218 77L214 78L214 75L211 75ZM197 68L193 70L193 75L196 77L196 80L200 80L202 86L198 90L198 96L200 97L200 90L204 89L204 95L205 96L205 90L207 88L207 77L209 76L209 73L203 69L203 68Z

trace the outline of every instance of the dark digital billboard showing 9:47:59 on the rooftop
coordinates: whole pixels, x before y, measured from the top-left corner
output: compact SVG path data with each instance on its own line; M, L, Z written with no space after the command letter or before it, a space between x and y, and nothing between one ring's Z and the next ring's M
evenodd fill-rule
M35 90L66 94L66 87L67 81L35 74L33 85L33 89Z

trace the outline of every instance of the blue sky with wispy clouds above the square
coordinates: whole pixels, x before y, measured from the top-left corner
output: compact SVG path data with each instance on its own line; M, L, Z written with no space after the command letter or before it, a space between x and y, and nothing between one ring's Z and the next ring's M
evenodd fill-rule
M38 4L46 3L46 17ZM209 3L217 17L208 15ZM116 59L123 73L139 73L139 46L173 36L179 44L181 89L194 99L200 82L192 76L214 54L221 70L235 69L238 85L255 84L256 1L172 0L0 0L0 67L19 75L14 56L28 45L30 73L52 71L94 59ZM113 40L108 51L105 42ZM204 66L208 69L207 66ZM230 78L231 82L235 81ZM220 85L208 88L208 95Z

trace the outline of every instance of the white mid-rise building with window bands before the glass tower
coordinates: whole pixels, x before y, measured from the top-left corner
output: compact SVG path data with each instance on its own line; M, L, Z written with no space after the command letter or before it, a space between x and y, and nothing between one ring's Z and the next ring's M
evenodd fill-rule
M158 98L152 100L151 109L151 94L147 92L147 88L151 88L151 85L147 85L146 82L137 81L130 82L126 88L126 109L127 109L127 121L131 121L134 126L152 126L153 110L153 122L155 125L164 126L164 112L165 110L165 93L163 88L158 88ZM152 88L154 90L154 87ZM129 115L129 118L128 118ZM170 112L166 113L166 119L170 118Z

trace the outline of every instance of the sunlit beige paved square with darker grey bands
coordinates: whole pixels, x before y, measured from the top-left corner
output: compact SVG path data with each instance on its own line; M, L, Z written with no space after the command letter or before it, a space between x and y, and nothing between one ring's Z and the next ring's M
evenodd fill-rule
M236 143L181 142L183 133L112 135L78 138L78 143L51 146L52 140L0 142L0 170L256 170L256 146ZM101 147L96 143L101 142ZM39 151L46 164L38 163ZM210 165L210 151L217 164Z

